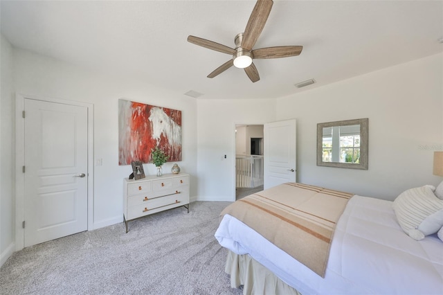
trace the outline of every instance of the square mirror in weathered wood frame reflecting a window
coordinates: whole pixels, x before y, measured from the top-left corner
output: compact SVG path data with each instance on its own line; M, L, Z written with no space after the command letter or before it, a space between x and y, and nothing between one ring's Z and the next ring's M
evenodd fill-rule
M317 166L368 170L368 118L318 123Z

